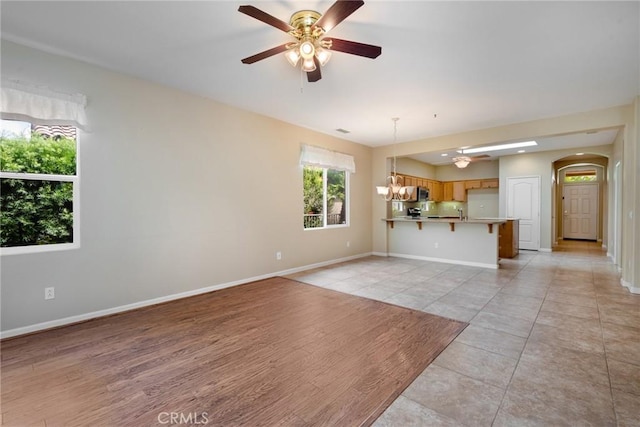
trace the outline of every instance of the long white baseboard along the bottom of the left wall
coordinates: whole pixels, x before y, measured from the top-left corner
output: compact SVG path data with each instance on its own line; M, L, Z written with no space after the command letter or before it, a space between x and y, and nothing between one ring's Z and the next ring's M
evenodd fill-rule
M19 336L19 335L25 335L25 334L30 334L30 333L33 333L33 332L43 331L45 329L57 328L57 327L60 327L60 326L70 325L70 324L73 324L73 323L84 322L84 321L95 319L95 318L98 318L98 317L109 316L109 315L112 315L112 314L117 314L117 313L122 313L122 312L125 312L125 311L135 310L137 308L147 307L147 306L150 306L150 305L156 305L156 304L160 304L160 303L167 302L167 301L174 301L174 300L178 300L178 299L181 299L181 298L191 297L191 296L194 296L194 295L205 294L207 292L213 292L213 291L217 291L217 290L220 290L220 289L230 288L232 286L243 285L245 283L255 282L257 280L268 279L270 277L286 276L288 274L298 273L298 272L301 272L301 271L310 270L310 269L313 269L313 268L324 267L324 266L327 266L327 265L337 264L337 263L340 263L340 262L351 261L351 260L355 260L355 259L358 259L358 258L364 258L364 257L370 256L370 255L372 255L372 254L371 253L366 253L366 254L353 255L353 256L349 256L349 257L334 259L334 260L330 260L330 261L323 261L323 262L319 262L319 263L315 263L315 264L305 265L305 266L302 266L302 267L295 267L295 268L290 268L290 269L287 269L287 270L275 271L273 273L267 273L267 274L263 274L263 275L260 275L260 276L247 277L245 279L235 280L235 281L232 281L232 282L220 283L220 284L217 284L217 285L207 286L207 287L204 287L204 288L194 289L194 290L191 290L191 291L180 292L180 293L177 293L177 294L172 294L172 295L167 295L167 296L163 296L163 297L153 298L153 299L145 300L145 301L139 301L139 302L135 302L135 303L132 303L132 304L125 304L125 305L121 305L121 306L118 306L118 307L107 308L107 309L104 309L104 310L93 311L93 312L90 312L90 313L78 314L76 316L64 317L62 319L55 319L55 320L50 320L50 321L47 321L47 322L36 323L34 325L23 326L23 327L20 327L20 328L9 329L7 331L1 331L0 332L0 339L16 337L16 336Z

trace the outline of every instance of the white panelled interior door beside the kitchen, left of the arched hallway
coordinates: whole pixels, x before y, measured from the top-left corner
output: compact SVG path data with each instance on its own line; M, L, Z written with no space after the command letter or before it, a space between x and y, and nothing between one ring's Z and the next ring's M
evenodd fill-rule
M539 176L507 178L507 217L520 220L520 249L540 249Z

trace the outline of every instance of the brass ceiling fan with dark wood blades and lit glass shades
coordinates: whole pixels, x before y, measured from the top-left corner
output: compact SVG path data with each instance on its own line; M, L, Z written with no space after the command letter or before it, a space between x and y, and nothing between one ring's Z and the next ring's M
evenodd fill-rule
M364 5L364 1L338 0L324 15L314 10L300 10L291 15L289 23L281 21L254 6L240 6L238 12L271 25L293 36L295 41L265 50L244 58L244 64L253 64L270 56L286 52L287 60L294 67L302 60L302 71L307 73L309 82L322 78L320 67L331 57L331 51L351 55L377 58L382 53L380 46L358 43L349 40L324 37L332 28L344 21L349 15Z

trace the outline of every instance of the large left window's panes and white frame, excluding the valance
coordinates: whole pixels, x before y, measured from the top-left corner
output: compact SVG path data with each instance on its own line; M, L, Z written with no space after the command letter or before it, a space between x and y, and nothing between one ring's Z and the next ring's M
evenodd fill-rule
M2 253L77 247L76 128L0 120L0 130Z

